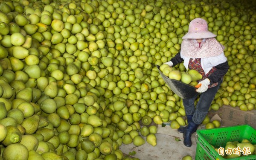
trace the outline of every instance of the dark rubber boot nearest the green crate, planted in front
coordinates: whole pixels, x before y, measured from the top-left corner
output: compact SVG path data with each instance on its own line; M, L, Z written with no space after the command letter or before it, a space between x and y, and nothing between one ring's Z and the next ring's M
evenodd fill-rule
M191 135L196 131L196 129L198 128L198 125L195 124L194 122L190 122L189 125L186 128L186 131L183 133L183 137L184 137L184 145L187 147L191 147L192 142L191 142Z

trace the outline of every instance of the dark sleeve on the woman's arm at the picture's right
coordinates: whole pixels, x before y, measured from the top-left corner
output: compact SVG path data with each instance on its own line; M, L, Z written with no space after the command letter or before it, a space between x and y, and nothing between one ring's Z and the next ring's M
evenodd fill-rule
M229 66L227 61L215 66L216 70L208 77L210 84L218 82L227 73Z

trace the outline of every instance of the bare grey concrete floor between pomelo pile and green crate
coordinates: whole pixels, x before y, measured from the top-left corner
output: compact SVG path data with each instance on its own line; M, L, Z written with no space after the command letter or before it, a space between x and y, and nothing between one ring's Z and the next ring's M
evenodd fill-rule
M203 129L203 125L199 128ZM135 146L133 143L129 145L121 145L120 150L124 154L136 151L134 157L140 160L182 160L182 157L190 155L195 160L196 154L196 133L192 134L192 146L183 145L183 134L177 129L172 129L169 125L157 127L157 145L152 146L147 142L141 146ZM176 140L175 140L176 138ZM180 141L177 141L180 139Z

